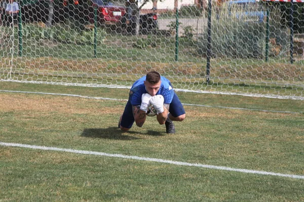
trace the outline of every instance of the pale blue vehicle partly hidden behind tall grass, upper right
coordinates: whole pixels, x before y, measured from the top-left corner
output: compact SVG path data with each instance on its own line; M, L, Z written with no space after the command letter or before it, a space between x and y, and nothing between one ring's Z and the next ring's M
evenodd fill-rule
M246 22L264 22L267 14L256 0L231 0L228 2L229 15L235 15L237 19L244 19Z

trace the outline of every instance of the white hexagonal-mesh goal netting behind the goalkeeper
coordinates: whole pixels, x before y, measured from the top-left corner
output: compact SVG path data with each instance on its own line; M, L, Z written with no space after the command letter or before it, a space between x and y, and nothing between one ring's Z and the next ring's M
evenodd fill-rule
M2 81L130 87L156 70L179 90L304 99L303 3L214 2L211 30L203 1L24 0L12 18L7 3Z

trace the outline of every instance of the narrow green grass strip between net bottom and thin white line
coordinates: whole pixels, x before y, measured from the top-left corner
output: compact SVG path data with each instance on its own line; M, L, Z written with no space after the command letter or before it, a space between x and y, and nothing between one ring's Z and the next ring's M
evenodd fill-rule
M0 82L1 90L46 92L61 94L78 94L83 96L110 97L116 99L128 99L129 89L99 88L99 87L73 87L47 84L26 84L16 82ZM177 92L180 100L184 104L222 106L246 109L290 111L304 113L304 102L302 100L280 99L280 102L270 102L269 98L248 97L241 95L218 95L201 94L192 92ZM189 98L191 97L191 98ZM216 100L216 102L214 102ZM276 100L276 99L274 99Z

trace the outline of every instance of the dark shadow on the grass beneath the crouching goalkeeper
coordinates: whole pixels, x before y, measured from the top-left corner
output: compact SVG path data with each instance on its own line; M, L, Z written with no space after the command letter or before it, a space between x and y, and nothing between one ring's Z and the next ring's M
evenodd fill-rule
M157 131L148 130L147 133L140 133L135 131L124 132L117 127L108 128L85 128L81 136L92 137L92 138L104 138L104 139L121 139L121 140L132 140L141 139L139 137L130 136L127 134L142 134L151 136L163 136L162 133Z

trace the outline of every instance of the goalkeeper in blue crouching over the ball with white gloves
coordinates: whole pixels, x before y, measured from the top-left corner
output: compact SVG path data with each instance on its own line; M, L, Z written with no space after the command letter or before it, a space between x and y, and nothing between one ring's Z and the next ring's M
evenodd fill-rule
M159 124L166 125L166 133L175 133L172 121L185 119L185 110L174 92L171 82L158 72L152 71L135 81L131 87L129 100L120 117L118 127L127 131L132 127L134 121L138 127L142 127L150 105L153 105L157 111L156 117Z

